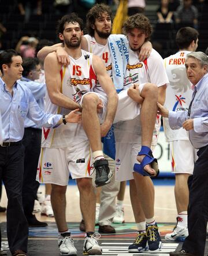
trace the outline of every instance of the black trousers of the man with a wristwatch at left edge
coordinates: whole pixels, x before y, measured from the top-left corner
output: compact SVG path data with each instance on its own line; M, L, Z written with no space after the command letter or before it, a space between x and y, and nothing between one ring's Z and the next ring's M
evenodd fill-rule
M24 171L24 147L22 144L10 147L0 146L0 180L5 184L8 206L6 211L9 249L27 252L28 222L22 202Z

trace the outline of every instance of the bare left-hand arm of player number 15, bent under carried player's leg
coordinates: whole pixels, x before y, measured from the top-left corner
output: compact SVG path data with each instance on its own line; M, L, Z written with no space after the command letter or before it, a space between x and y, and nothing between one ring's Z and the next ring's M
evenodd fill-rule
M51 103L62 108L81 109L80 105L61 93L61 64L55 52L47 55L44 61L47 92Z

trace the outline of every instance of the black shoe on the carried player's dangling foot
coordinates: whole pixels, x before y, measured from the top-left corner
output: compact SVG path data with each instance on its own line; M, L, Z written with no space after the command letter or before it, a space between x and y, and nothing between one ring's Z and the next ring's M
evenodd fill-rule
M95 185L103 186L110 183L109 178L112 177L112 171L109 169L109 164L106 159L96 160L94 163L96 170Z

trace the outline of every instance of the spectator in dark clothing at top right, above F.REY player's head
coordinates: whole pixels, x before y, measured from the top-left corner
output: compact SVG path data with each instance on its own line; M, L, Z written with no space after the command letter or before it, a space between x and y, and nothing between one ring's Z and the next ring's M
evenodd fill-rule
M198 28L198 10L192 5L192 0L183 0L183 4L175 12L175 20L179 27Z

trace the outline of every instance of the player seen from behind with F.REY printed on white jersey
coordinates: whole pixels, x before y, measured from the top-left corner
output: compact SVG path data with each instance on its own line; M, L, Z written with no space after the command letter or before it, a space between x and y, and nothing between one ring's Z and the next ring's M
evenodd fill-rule
M170 81L166 91L165 107L172 111L187 110L192 98L191 82L185 70L185 56L195 52L198 47L198 31L195 28L183 27L176 34L179 52L165 58L165 67ZM177 207L177 224L166 240L184 240L188 236L188 177L193 174L194 162L197 159L196 149L192 146L188 131L170 129L168 118L164 118L166 139L170 142L172 172L176 174L174 194Z

